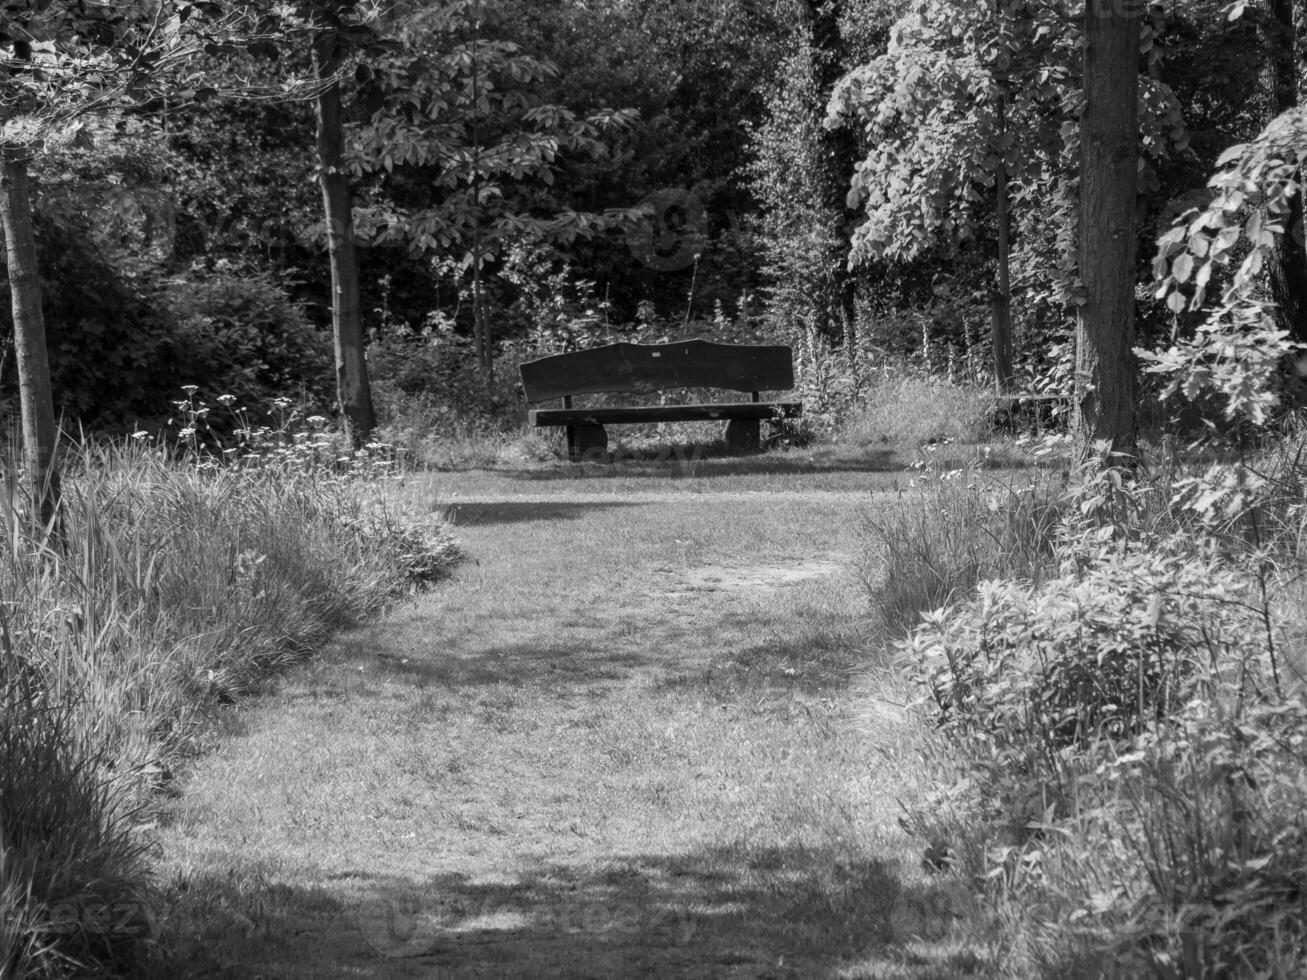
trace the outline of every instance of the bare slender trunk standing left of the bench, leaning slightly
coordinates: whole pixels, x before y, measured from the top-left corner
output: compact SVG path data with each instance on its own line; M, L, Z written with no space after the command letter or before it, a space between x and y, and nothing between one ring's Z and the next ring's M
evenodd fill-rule
M354 252L354 218L345 176L345 135L341 125L340 84L336 73L344 61L335 31L314 38L314 72L322 86L318 95L318 180L327 216L327 247L331 256L331 311L336 338L336 396L354 448L367 442L376 427L372 389L363 355L363 320L358 302L358 256Z

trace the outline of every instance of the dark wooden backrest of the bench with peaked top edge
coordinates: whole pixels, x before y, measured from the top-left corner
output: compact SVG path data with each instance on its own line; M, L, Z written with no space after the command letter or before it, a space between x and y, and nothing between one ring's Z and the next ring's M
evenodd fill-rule
M609 344L521 366L527 401L648 392L665 388L727 388L758 392L795 387L787 346L744 346L682 340L674 344Z

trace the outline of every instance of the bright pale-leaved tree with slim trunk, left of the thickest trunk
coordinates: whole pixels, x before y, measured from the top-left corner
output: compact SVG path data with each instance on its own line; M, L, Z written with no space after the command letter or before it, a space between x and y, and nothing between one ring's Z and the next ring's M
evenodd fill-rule
M993 243L1000 388L1013 379L1012 189L1029 195L1053 176L1069 47L1055 4L921 0L891 29L889 50L840 80L830 101L827 125L856 124L867 146L848 195L868 217L851 261L907 261L940 240Z

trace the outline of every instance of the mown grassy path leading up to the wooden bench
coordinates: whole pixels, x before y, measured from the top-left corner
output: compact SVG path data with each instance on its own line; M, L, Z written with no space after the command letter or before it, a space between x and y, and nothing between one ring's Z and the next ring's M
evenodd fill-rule
M800 480L422 490L472 561L235 712L187 777L161 830L175 970L941 975L891 942L927 892L851 683L846 559L886 480Z

